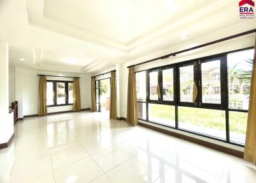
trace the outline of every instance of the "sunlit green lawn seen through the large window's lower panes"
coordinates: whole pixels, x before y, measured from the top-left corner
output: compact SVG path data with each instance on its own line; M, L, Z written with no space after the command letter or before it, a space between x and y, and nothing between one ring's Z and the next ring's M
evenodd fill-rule
M166 105L151 105L151 116L175 120L175 107ZM203 125L225 131L225 111L199 109L195 107L179 107L179 122ZM247 113L230 112L230 131L239 134L246 133Z

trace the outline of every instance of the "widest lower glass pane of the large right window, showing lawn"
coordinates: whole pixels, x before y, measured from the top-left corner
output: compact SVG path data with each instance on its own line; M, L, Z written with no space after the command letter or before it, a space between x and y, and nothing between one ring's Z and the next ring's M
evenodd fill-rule
M226 139L225 111L179 107L179 128Z

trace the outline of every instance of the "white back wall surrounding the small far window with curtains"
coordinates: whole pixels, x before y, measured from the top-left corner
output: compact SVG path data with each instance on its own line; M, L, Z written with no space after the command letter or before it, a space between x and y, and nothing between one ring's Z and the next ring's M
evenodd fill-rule
M16 100L19 102L19 118L26 115L38 114L38 74L46 74L52 76L72 76L81 77L80 79L80 93L81 93L81 108L90 108L90 74L73 74L73 73L58 73L45 72L40 70L29 70L24 68L16 68ZM19 83L17 80L19 79ZM72 78L66 77L47 77L47 79L72 81ZM48 113L59 111L70 111L72 106L58 106L48 107Z

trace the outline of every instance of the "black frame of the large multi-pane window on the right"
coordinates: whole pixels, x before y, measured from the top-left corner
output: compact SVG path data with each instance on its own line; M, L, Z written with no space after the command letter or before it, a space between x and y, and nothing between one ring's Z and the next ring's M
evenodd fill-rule
M254 47L246 47L243 49L237 49L234 51L228 51L228 52L223 52L220 54L214 54L211 56L205 56L202 58L196 58L193 60L188 60L188 61L182 61L179 63L173 63L170 65L164 65L161 67L154 67L154 68L149 68L146 70L140 70L138 72L143 72L146 71L146 87L147 87L147 100L146 101L137 101L137 102L143 102L146 103L146 116L147 119L141 119L138 118L138 120L145 121L145 122L150 122L154 123L157 125L161 125L164 127L168 127L170 129L176 129L178 131L184 131L184 132L189 132L191 134L196 134L198 136L203 136L205 138L210 138L210 139L215 139L217 141L222 141L224 143L236 145L239 147L244 147L244 144L241 143L236 143L234 141L230 141L230 129L229 129L229 116L228 113L230 111L235 111L235 112L244 112L248 113L248 110L244 109L230 109L228 108L228 67L227 67L227 56L230 53L233 52L239 52L239 51L246 51L253 49ZM220 58L220 88L221 88L221 103L220 104L211 104L211 103L202 103L202 70L201 70L201 63L207 62L207 61L213 61L213 60L218 60ZM195 102L180 102L180 73L179 73L179 68L188 66L188 65L193 65L194 66L194 81L196 82L196 86L198 88L198 97L196 98ZM168 69L168 68L173 68L173 101L163 101L163 70ZM149 73L158 70L158 82L160 84L161 88L161 99L160 100L150 100L149 98ZM136 74L137 72L135 72ZM199 84L200 83L200 84ZM163 104L163 105L170 105L170 106L175 106L175 127L172 127L171 125L166 125L163 123L159 122L152 122L148 120L148 104ZM226 118L226 139L221 139L217 138L214 136L210 136L207 134L202 134L198 132L193 132L189 131L186 129L180 129L179 128L179 116L178 116L178 107L197 107L197 108L203 108L203 109L215 109L215 110L221 110L225 111L225 118Z

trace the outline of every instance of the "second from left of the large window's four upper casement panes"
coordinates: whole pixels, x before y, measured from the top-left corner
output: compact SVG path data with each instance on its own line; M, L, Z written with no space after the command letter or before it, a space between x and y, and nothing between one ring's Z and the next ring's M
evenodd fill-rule
M163 70L163 100L173 101L173 68Z

